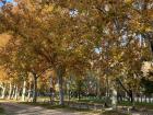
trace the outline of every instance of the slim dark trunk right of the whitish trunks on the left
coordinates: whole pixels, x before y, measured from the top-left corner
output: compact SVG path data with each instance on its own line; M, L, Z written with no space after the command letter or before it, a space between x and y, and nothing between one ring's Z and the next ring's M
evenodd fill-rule
M37 74L33 73L34 76L34 89L33 89L33 102L37 102Z

